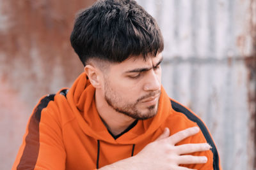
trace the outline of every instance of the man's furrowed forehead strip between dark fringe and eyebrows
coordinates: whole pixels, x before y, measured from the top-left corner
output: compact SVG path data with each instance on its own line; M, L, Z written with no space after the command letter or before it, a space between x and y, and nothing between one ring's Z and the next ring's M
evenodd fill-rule
M142 55L137 57L130 57L123 62L111 64L111 69L125 72L129 69L152 67L155 66L162 58L162 53L157 53L156 56L148 56L146 59L144 59Z

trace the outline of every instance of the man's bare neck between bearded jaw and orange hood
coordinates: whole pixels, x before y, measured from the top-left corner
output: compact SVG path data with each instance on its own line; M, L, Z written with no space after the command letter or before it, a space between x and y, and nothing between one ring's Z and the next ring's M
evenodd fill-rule
M95 103L102 121L114 135L118 135L125 131L125 129L134 122L134 118L119 113L109 106L104 95L98 89L95 91Z

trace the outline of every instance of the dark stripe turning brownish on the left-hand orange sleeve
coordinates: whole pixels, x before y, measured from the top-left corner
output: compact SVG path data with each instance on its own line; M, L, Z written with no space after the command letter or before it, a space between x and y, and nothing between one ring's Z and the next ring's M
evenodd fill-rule
M44 97L36 106L28 125L28 135L26 136L26 146L20 158L17 170L34 169L39 153L39 123L42 110L50 101L54 100L54 94Z

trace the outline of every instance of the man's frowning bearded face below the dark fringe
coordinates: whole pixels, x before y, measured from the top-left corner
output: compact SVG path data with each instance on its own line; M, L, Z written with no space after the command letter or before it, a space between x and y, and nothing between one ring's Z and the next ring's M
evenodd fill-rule
M115 111L136 119L154 117L161 94L161 53L111 64L104 73L104 97Z

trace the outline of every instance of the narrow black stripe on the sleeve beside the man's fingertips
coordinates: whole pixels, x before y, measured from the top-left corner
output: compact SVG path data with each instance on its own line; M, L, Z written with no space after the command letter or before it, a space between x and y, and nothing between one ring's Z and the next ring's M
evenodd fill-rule
M202 122L202 120L200 120L198 117L196 117L193 113L191 113L191 111L186 109L184 106L182 106L179 103L176 103L175 101L172 101L172 100L171 100L171 103L172 103L173 110L183 113L184 115L186 115L187 118L189 118L189 120L195 122L198 125L198 127L200 127L201 131L204 134L204 138L207 140L207 143L209 143L209 145L212 146L211 151L213 153L213 169L220 170L218 151L216 149L216 146L214 145L214 142L211 138L209 131L205 127L205 124Z

